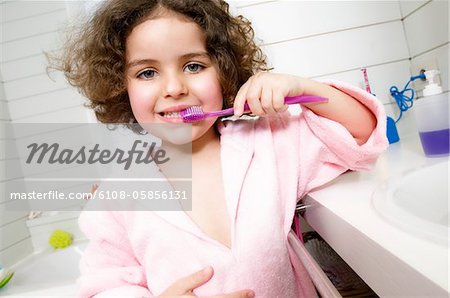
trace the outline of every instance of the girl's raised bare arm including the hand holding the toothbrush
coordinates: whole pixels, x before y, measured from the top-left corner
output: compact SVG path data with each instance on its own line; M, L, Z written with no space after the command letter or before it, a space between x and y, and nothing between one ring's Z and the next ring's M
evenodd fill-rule
M247 102L253 114L264 116L285 111L286 96L311 94L327 103L304 104L314 113L342 124L356 142L364 144L377 125L375 115L358 100L326 84L286 74L261 72L241 87L234 102L235 115L242 115Z

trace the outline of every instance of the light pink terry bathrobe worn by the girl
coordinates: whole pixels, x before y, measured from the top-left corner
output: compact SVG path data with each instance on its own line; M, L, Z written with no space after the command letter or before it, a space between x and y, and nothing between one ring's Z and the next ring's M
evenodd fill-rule
M231 248L208 237L183 211L85 211L79 223L90 243L81 261L80 296L154 297L211 265L215 274L195 290L198 296L252 289L256 297L314 297L287 241L296 202L348 169L369 169L387 147L378 100L328 83L376 115L377 127L365 144L306 108L299 116L221 124Z

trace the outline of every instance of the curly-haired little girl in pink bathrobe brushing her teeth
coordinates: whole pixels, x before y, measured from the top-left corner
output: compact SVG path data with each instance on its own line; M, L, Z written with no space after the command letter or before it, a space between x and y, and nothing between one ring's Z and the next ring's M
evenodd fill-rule
M269 72L222 0L106 1L62 67L101 122L182 123L189 106L239 117L245 103L260 116L192 125L192 211L82 213L81 297L315 296L287 241L295 205L386 148L372 95ZM284 98L302 94L329 101L289 115Z

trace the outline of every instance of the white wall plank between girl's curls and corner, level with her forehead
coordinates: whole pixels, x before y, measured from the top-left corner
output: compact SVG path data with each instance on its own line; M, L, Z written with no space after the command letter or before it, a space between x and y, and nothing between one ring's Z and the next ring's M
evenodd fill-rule
M320 76L408 58L400 21L264 47L277 72Z

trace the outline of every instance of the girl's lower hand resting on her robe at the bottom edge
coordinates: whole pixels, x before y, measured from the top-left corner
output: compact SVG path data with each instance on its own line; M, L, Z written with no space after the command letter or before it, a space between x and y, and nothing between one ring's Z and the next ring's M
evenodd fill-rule
M206 267L191 275L180 278L168 287L159 297L197 297L194 289L211 279L214 272L212 267ZM212 296L211 298L252 298L255 294L251 290L241 290L233 293Z

